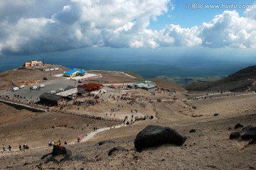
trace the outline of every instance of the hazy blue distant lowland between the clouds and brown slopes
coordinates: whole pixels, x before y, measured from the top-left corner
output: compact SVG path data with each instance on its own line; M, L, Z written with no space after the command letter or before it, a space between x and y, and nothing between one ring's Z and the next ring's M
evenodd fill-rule
M254 52L250 50L247 51L245 56L247 60L244 61L239 60L239 50L230 50L230 57L222 57L221 50L209 49L212 52L207 52L207 57L198 56L202 53L201 49L191 50L189 48L191 56L184 56L182 50L169 49L168 52L166 50L166 48L157 51L151 50L151 55L146 57L143 57L144 50L138 49L137 52L130 52L116 49L113 51L108 47L100 50L97 48L94 50L80 49L41 55L3 57L3 62L0 63L0 72L20 67L23 62L28 60L44 60L46 63L80 69L134 72L144 78L174 79L175 77L225 77L256 64L256 58L253 57Z

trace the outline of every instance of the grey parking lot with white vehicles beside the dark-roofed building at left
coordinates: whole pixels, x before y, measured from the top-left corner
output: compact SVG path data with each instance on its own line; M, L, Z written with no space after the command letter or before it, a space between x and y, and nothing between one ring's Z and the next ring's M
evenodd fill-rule
M31 89L32 86L39 87L41 84L44 84L45 86L39 89ZM1 91L1 96L9 96L10 99L13 99L14 94L16 94L18 96L21 96L22 98L14 98L14 100L28 102L33 101L34 103L36 103L37 101L40 101L38 97L41 96L41 94L45 92L50 93L50 91L59 91L59 89L65 89L67 86L76 87L78 86L78 81L72 79L54 79L50 81L43 81L41 84L25 86L21 89L18 89L18 91Z

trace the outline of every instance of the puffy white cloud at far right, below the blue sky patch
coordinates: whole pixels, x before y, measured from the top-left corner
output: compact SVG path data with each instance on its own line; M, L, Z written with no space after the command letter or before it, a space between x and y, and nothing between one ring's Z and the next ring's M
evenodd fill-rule
M199 28L203 45L208 47L255 47L256 21L224 11Z

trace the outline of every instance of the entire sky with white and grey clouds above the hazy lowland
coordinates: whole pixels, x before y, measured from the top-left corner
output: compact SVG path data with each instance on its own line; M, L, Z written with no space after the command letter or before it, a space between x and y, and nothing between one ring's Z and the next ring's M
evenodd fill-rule
M0 1L0 56L94 47L256 50L256 4L250 0Z

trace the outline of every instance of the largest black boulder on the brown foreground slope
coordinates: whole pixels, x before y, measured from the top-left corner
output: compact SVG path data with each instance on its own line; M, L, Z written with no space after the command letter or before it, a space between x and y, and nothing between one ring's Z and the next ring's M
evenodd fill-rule
M157 147L163 144L181 146L186 141L186 136L169 127L148 125L140 131L134 140L134 147L142 150L148 147Z

